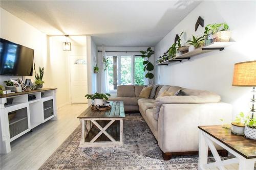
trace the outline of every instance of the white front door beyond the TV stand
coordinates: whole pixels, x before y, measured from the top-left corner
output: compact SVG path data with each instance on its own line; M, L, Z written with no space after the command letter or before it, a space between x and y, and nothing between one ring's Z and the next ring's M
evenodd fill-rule
M87 104L87 63L86 56L70 56L71 103Z

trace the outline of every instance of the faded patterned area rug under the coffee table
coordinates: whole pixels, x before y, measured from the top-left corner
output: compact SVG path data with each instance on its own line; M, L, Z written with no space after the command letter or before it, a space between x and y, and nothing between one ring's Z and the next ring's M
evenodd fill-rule
M123 146L79 148L81 126L78 126L40 169L198 169L198 156L176 156L164 161L140 114L126 114L123 130Z

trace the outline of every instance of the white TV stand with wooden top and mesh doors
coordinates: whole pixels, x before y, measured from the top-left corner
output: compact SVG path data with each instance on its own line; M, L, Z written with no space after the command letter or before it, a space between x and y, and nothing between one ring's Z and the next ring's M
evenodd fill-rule
M0 95L1 154L11 152L11 141L49 119L57 119L56 92L56 88L49 88ZM31 95L35 99L29 99ZM10 100L12 104L5 106Z

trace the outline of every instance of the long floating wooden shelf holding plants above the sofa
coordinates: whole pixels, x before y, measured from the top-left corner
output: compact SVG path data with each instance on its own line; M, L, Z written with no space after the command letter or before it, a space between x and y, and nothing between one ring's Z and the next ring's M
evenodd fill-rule
M197 48L194 51L182 54L182 55L176 57L175 59L169 59L169 60L163 61L161 63L158 63L157 65L168 65L169 63L173 63L173 62L181 62L184 59L189 60L190 57L194 57L194 56L197 56L197 55L200 55L203 53L212 52L215 50L222 51L222 50L225 50L225 48L224 48L225 46L229 46L232 44L234 44L234 42L213 42L209 45Z

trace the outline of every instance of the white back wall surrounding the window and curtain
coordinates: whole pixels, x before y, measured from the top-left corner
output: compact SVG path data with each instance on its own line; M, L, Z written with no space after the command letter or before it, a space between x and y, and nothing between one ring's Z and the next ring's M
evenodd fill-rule
M118 47L118 46L104 46L105 51L127 51L127 52L139 52L139 51L146 51L148 47ZM154 50L154 47L151 47L152 50ZM98 46L98 50L102 51L102 46ZM113 54L113 53L111 53ZM126 53L123 53L126 54ZM141 55L141 53L127 53L132 55ZM108 53L107 53L108 55ZM154 55L151 56L150 62L154 63ZM98 52L98 67L99 67L99 73L98 73L98 91L100 92L101 89L101 72L102 72L102 52ZM154 67L155 69L156 67ZM154 81L154 79L153 79ZM147 80L145 80L147 82Z

